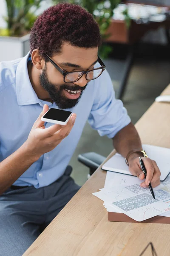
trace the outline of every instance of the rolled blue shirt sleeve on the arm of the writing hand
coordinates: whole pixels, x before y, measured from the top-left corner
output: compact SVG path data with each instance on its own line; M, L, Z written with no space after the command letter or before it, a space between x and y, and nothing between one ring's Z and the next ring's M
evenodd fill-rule
M100 136L113 138L131 120L126 108L119 99L115 99L115 92L111 78L105 70L101 78L95 80L95 97L88 122L98 131Z

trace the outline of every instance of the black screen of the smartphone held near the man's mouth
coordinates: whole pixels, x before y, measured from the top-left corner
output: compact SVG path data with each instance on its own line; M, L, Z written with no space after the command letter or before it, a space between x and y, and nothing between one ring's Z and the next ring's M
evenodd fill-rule
M43 117L47 119L65 122L68 119L68 116L70 116L70 114L70 111L50 108L50 110Z

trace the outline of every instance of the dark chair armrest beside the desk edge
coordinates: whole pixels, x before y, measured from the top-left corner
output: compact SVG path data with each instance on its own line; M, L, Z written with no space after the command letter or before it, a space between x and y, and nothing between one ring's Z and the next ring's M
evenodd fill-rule
M80 163L94 170L96 170L105 159L106 157L103 157L102 155L97 154L95 152L88 152L78 155L78 160Z

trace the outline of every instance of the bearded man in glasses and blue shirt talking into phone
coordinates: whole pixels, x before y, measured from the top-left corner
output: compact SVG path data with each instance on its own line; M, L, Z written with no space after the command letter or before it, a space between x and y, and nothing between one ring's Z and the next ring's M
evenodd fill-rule
M0 255L22 255L78 191L66 167L87 119L144 178L141 141L115 99L100 43L92 15L58 4L34 23L30 53L0 65ZM49 107L71 110L67 125L42 122ZM141 186L159 185L156 163L143 160Z

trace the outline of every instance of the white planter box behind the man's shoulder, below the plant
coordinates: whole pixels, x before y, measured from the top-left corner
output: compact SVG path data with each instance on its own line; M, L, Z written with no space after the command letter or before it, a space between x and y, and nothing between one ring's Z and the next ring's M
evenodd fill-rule
M22 58L29 51L29 34L23 37L0 36L0 61Z

